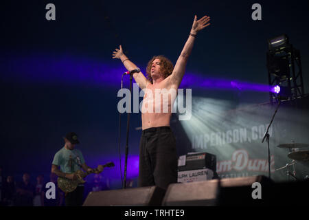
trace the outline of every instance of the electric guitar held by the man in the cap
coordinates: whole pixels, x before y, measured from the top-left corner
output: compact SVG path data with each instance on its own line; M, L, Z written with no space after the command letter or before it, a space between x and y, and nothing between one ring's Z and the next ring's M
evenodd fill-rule
M109 162L107 164L104 164L103 167L112 167L115 166L113 162ZM99 171L98 168L95 168L91 171L83 172L82 170L77 170L74 174L76 175L76 179L67 179L65 177L58 177L58 187L63 192L73 192L78 186L78 184L84 184L84 177L87 177L87 175L91 173L95 173L96 171Z

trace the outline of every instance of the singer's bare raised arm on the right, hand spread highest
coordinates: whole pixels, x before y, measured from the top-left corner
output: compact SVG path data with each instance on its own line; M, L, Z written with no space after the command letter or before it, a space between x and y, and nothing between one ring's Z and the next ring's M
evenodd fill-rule
M210 17L208 17L207 15L199 20L197 20L196 15L194 16L194 22L192 25L192 29L190 31L190 36L187 39L187 42L185 43L185 46L183 47L181 55L179 56L176 62L172 75L170 76L170 82L172 86L178 88L179 85L181 84L181 80L183 79L183 75L185 74L185 65L187 64L187 60L192 52L196 34L200 30L203 30L208 25L210 25L210 23L208 23L209 20L210 20Z

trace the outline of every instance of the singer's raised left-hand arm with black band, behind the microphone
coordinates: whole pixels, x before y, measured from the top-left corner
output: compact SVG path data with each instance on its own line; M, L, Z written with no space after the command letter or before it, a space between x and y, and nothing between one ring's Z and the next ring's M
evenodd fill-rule
M116 48L115 51L113 52L113 59L114 58L120 59L122 63L124 64L124 67L126 67L128 71L137 69L137 66L133 62L131 62L128 59L128 57L124 54L124 52L122 51L122 45L119 45L119 49ZM135 73L133 74L133 77L141 89L146 88L148 80L146 79L144 74L142 74L141 72Z

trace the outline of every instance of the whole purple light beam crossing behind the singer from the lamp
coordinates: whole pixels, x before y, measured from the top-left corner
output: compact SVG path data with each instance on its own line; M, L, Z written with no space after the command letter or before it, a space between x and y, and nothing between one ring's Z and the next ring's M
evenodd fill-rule
M126 68L116 61L73 56L71 54L8 54L1 70L3 80L20 83L49 83L120 87ZM145 67L145 66L144 66ZM141 71L146 73L141 65ZM128 82L128 78L125 78ZM181 88L221 89L238 91L275 92L272 86L235 79L211 78L205 74L186 72ZM276 91L279 92L279 91Z

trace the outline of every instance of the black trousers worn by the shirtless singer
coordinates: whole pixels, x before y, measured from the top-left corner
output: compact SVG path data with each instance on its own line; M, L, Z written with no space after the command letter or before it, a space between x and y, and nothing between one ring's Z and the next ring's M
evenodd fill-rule
M168 188L177 182L175 138L169 126L145 129L139 143L139 186Z

